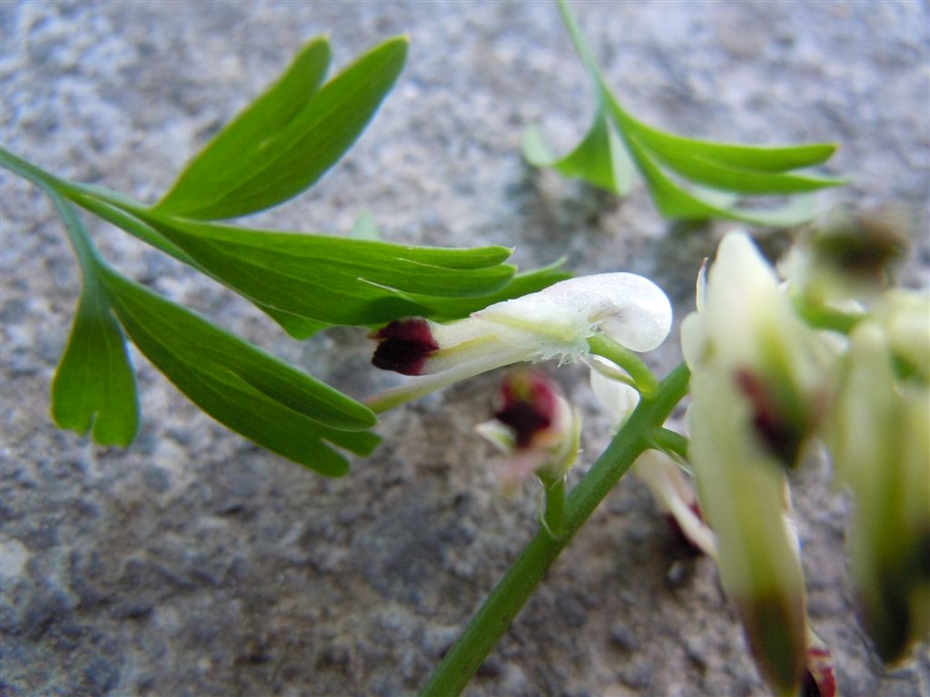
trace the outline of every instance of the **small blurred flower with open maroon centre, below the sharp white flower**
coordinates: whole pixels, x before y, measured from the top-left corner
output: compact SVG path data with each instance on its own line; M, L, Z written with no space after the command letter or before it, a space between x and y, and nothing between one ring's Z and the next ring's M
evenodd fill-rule
M509 375L500 388L494 419L476 427L506 459L498 485L511 495L533 475L562 479L578 457L581 417L559 386L538 372Z

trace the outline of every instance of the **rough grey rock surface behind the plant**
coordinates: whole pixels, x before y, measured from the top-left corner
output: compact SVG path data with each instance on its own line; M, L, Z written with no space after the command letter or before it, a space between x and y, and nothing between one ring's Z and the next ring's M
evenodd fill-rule
M699 137L843 142L855 176L825 201L902 204L919 230L906 279L927 284L925 3L583 3L604 71L632 112ZM347 230L362 206L392 241L505 243L527 267L634 270L679 318L727 226L669 226L519 154L591 114L584 73L544 3L61 3L0 6L5 147L153 201L206 138L329 33L339 63L410 34L399 84L349 156L250 224ZM343 480L259 451L200 414L136 355L144 425L101 449L48 417L79 279L39 191L2 183L0 692L25 695L394 695L415 690L535 527L498 499L472 433L485 375L387 414L385 442ZM126 274L363 396L364 334L305 344L217 285L91 223ZM652 360L679 360L675 337ZM584 371L585 466L607 442ZM584 467L582 467L583 469ZM930 659L883 672L854 619L846 503L823 467L798 495L810 612L849 697L930 693ZM688 556L624 480L560 559L470 687L473 695L760 695L707 559Z

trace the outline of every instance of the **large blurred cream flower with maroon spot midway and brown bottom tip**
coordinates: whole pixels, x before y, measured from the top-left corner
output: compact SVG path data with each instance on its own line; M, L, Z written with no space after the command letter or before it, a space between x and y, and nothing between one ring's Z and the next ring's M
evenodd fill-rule
M819 419L825 357L742 234L724 237L702 271L682 347L692 371L688 455L721 581L765 679L795 695L807 626L785 467Z

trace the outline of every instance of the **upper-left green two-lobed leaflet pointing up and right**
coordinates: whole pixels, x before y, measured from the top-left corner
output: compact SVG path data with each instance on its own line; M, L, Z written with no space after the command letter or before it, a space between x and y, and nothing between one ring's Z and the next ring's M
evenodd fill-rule
M403 69L406 46L405 37L389 39L317 90L329 49L325 40L313 42L155 209L197 219L236 217L304 191L361 135Z

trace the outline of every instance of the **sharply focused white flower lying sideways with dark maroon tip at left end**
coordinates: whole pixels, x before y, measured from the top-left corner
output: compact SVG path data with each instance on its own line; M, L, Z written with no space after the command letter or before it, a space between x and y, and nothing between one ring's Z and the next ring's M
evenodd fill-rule
M671 329L662 290L632 273L604 273L491 305L458 322L392 322L373 337L379 368L419 375L367 401L385 411L458 380L516 362L577 362L603 333L627 349L655 349Z

